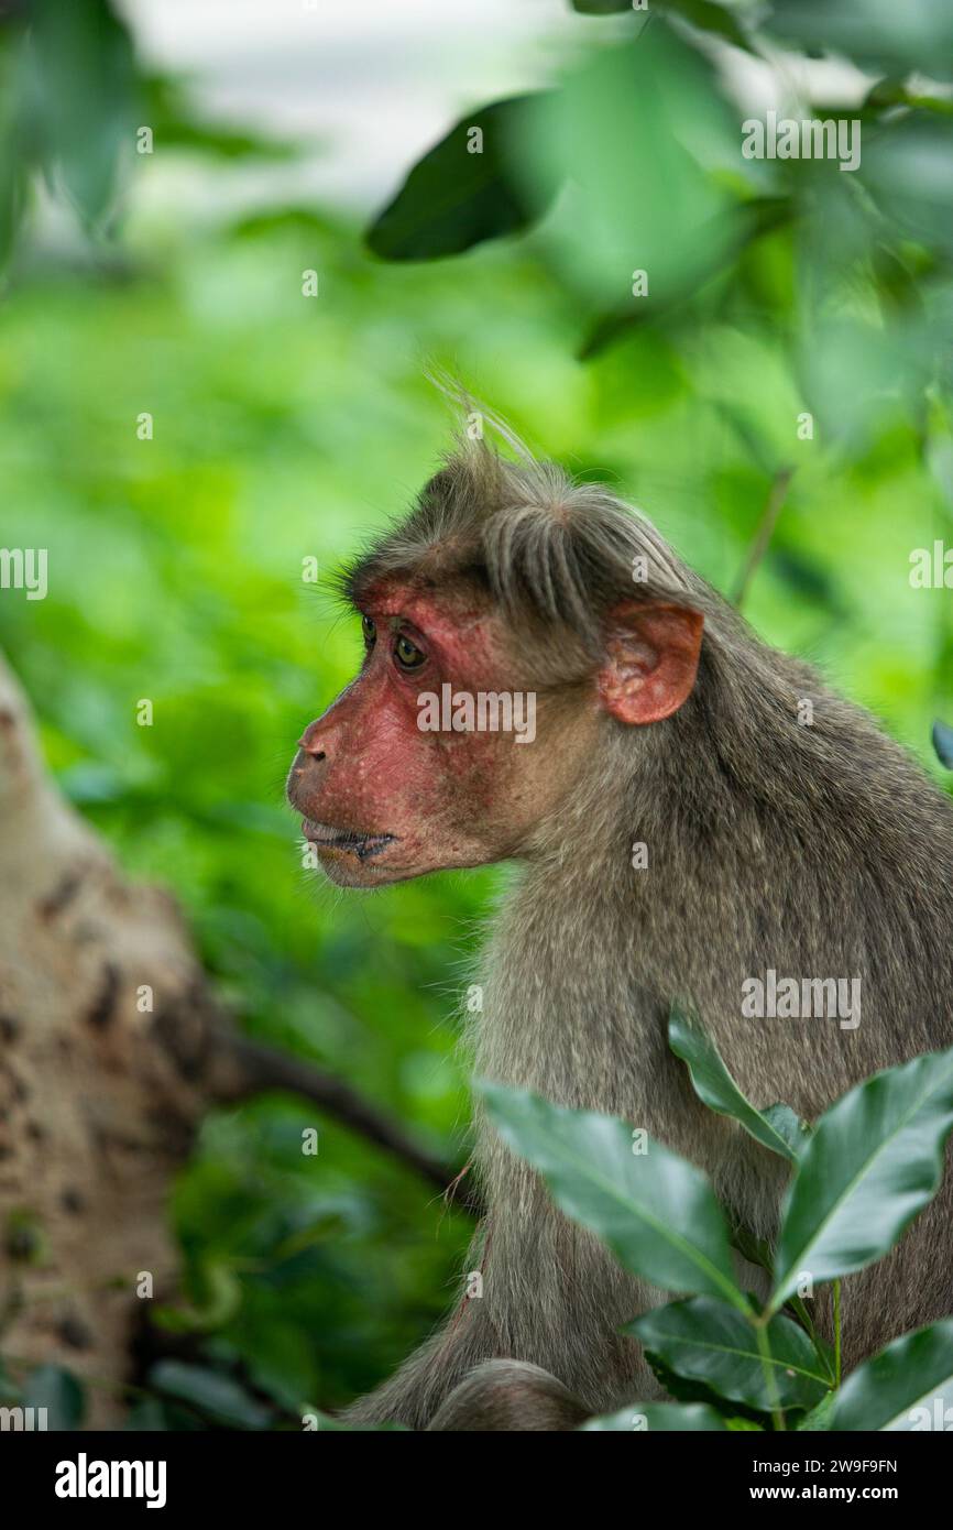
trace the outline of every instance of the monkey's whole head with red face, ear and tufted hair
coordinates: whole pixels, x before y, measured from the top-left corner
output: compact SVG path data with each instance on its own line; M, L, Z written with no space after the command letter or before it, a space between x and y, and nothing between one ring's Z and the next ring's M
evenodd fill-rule
M600 731L661 722L694 685L702 617L633 598L626 548L621 598L601 607L587 592L578 532L594 528L580 490L566 490L558 506L537 494L531 513L517 497L500 569L491 536L503 531L508 502L499 503L499 473L488 482L486 468L482 454L454 461L401 531L347 574L364 661L304 730L288 782L304 837L341 886L529 854ZM630 513L613 514L629 536ZM535 546L526 548L516 531L531 519ZM512 586L502 572L517 575ZM540 588L552 609L534 600Z

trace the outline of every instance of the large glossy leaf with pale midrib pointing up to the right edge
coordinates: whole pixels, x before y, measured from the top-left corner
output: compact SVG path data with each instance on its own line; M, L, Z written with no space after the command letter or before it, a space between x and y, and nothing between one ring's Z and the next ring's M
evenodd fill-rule
M953 1048L851 1089L814 1128L791 1184L772 1310L802 1273L818 1284L881 1259L936 1195L953 1126Z

